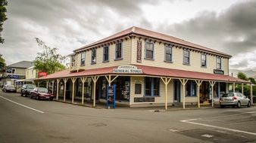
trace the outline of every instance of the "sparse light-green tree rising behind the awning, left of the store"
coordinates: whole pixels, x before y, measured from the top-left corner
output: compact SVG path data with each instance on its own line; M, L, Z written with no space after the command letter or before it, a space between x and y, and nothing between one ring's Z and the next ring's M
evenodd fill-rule
M35 69L45 71L48 75L65 69L61 61L66 57L57 53L57 47L48 47L45 42L39 38L36 38L36 42L38 46L42 48L42 53L37 53L36 59L33 61Z

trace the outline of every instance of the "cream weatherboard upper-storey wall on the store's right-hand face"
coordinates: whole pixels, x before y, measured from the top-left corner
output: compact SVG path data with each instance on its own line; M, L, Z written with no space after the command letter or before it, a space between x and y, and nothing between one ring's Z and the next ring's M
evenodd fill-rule
M162 68L176 68L181 70L188 71L199 71L199 72L207 72L214 73L214 69L216 68L216 56L207 55L207 68L201 68L201 53L190 51L190 65L183 65L183 48L173 47L173 62L164 62L164 44L159 44L156 42L154 44L154 60L145 59L145 41L142 41L142 62L136 62L136 48L137 41L139 38L133 39L133 48L132 48L132 64L137 65L149 65L149 66L157 66ZM225 75L228 75L228 59L221 59L221 67L224 71Z

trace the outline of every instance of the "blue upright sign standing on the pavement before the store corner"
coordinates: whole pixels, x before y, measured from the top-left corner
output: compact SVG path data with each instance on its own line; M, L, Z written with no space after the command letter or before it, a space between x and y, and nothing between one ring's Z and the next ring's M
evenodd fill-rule
M116 85L107 87L107 108L116 108Z

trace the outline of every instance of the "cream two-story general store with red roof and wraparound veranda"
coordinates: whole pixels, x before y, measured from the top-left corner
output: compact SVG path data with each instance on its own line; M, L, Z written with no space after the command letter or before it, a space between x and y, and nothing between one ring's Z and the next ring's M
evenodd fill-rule
M249 84L229 76L231 56L158 32L131 27L73 50L70 69L41 81L55 84L56 99L105 102L116 85L116 102L129 107L217 102L221 93ZM242 91L243 92L243 91Z

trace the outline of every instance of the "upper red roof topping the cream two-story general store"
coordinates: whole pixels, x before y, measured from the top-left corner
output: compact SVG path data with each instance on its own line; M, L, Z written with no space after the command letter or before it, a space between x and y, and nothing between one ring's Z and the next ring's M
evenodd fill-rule
M208 52L212 52L212 53L217 53L217 54L220 54L220 55L223 55L223 56L231 57L231 55L229 55L229 54L222 53L220 51L213 50L213 49L210 49L208 47L201 46L199 44L194 44L194 43L189 42L189 41L184 41L183 39L180 39L180 38L175 38L175 37L170 36L170 35L164 35L164 34L159 33L159 32L153 32L153 31L150 31L150 30L147 30L147 29L142 29L142 28L136 27L136 26L133 26L130 29L126 29L126 30L123 30L121 32L118 32L118 33L116 33L114 35L111 35L107 38L103 38L99 41L95 41L92 44L88 44L86 46L80 47L80 48L74 50L74 52L76 52L78 50L83 50L83 49L86 49L86 48L89 48L89 47L93 47L97 44L102 44L106 41L114 40L115 38L121 38L123 36L131 35L131 34L145 36L145 37L149 37L149 38L155 38L155 39L158 39L158 40L161 40L161 41L167 41L167 42L171 42L173 44L180 44L180 45L187 46L187 47L192 47L192 48L195 48L195 49L198 49L198 50L204 50L204 51L208 51Z

